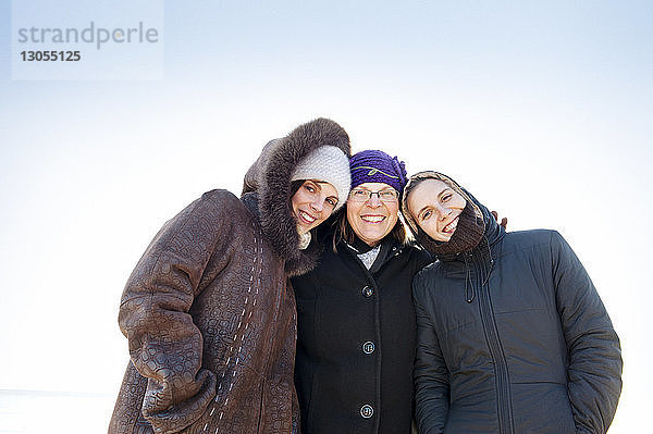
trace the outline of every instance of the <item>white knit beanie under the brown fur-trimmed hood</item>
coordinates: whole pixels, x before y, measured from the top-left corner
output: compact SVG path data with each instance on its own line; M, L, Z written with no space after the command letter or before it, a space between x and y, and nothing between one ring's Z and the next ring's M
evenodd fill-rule
M316 148L306 154L295 168L291 181L298 179L322 181L333 185L337 191L335 211L347 201L347 196L349 196L352 186L349 159L342 149L335 146Z

